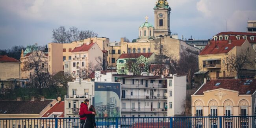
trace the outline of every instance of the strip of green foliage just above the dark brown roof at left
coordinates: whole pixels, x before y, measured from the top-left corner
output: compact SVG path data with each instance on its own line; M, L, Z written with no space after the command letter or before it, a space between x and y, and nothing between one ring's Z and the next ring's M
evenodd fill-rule
M64 99L64 96L67 95L66 87L57 87L59 96L61 99ZM42 92L42 93L41 93ZM43 95L40 95L43 94ZM45 96L46 99L56 99L58 96L55 89L47 88L19 88L13 89L4 95L0 96L0 100L16 100L17 97L21 97L23 100L31 100L31 96L35 96L40 99L41 96Z

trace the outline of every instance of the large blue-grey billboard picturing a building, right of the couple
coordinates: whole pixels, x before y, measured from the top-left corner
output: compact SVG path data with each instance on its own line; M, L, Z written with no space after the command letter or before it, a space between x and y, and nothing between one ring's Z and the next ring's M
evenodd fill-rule
M121 83L95 82L96 117L120 117Z

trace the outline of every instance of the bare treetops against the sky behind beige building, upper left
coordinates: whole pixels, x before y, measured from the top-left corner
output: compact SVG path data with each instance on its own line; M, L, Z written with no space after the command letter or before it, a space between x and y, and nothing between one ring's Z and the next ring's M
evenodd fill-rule
M54 43L72 43L89 37L98 36L97 33L90 30L78 30L76 27L71 27L66 30L65 26L60 26L52 30L52 39Z

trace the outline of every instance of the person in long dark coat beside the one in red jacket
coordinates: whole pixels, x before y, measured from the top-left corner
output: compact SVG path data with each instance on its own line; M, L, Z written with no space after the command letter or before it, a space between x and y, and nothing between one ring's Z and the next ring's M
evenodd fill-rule
M90 106L89 111L92 111L96 115L96 111L93 105ZM96 128L95 115L89 114L86 115L85 128Z

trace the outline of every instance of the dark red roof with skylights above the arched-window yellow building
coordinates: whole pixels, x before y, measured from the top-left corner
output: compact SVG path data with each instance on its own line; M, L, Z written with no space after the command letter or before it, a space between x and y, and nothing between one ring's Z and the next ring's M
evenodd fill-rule
M252 80L252 82L250 82L249 85L244 85L245 83L248 83L247 81L249 80ZM220 83L219 86L215 86L216 83ZM211 80L210 82L202 85L202 87L198 89L195 95L203 95L204 91L210 91L219 88L239 91L239 95L252 95L254 91L256 91L256 79Z

